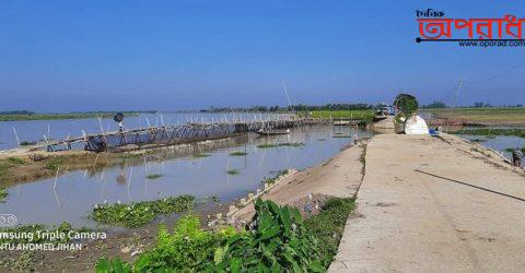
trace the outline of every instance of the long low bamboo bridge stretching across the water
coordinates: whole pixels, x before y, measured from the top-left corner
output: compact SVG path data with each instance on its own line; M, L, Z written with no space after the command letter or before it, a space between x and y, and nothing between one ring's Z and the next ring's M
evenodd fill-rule
M107 131L63 140L45 140L25 147L26 151L59 152L84 150L91 152L124 152L131 150L167 146L197 141L224 139L241 133L262 130L278 130L305 124L324 123L327 120L300 117L233 120L224 122L187 122L177 126L155 126L122 131Z

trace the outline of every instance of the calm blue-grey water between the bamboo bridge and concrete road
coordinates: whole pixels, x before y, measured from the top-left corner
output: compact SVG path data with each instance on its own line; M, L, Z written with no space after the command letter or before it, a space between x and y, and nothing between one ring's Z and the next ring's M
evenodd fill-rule
M88 121L67 122L72 126ZM110 124L109 120L104 122ZM198 200L213 195L228 202L256 191L260 181L275 171L302 169L329 158L351 143L355 133L360 138L371 135L350 127L311 126L295 128L288 135L259 138L249 133L209 145L200 143L131 156L116 166L69 171L11 187L7 202L0 204L0 213L15 214L20 224L54 225L66 221L73 226L95 226L88 216L95 204L104 202L126 203L179 194L191 194ZM298 145L269 145L276 143ZM234 156L234 152L241 153ZM240 156L243 153L246 155Z

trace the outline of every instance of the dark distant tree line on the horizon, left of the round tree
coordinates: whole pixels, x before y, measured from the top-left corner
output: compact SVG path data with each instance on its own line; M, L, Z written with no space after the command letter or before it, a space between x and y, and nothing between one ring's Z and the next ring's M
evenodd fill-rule
M200 112L228 112L228 111L316 111L316 110L368 110L373 109L371 104L326 104L326 105L292 105L292 106L252 106L252 107L209 107Z

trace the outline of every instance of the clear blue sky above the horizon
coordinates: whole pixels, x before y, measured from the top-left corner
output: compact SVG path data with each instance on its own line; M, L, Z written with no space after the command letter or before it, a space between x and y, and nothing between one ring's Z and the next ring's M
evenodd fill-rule
M417 44L429 8L525 17L520 1L2 0L0 110L287 105L282 81L293 103L450 103L460 78L482 83L459 104L525 104L525 47Z

